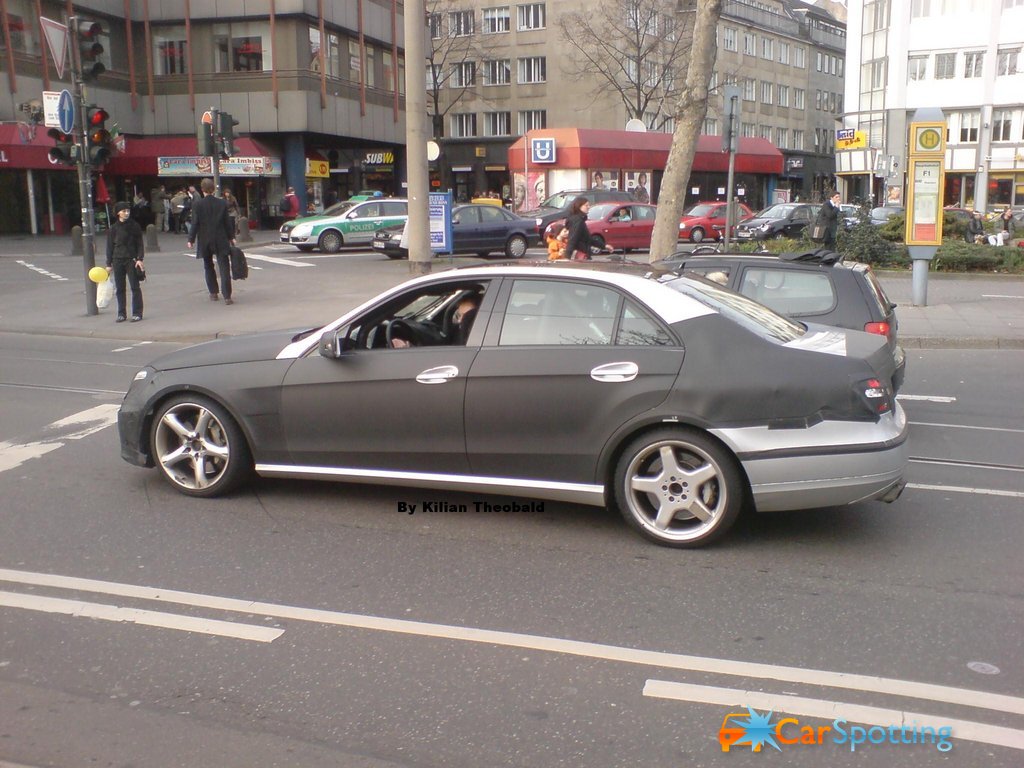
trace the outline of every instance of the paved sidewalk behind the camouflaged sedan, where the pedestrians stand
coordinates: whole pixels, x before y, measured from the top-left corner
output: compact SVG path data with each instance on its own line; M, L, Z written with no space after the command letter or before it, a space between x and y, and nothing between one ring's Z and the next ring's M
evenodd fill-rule
M276 243L273 230L253 232L253 242L244 243L247 253ZM59 284L61 303L52 298L41 301L37 289L52 296L53 286L30 280L27 288L5 289L0 303L0 332L59 334L125 340L194 342L219 336L258 331L314 327L338 317L346 310L380 291L410 278L406 261L353 258L337 262L329 280L310 283L312 269L260 269L251 259L250 279L237 284L237 302L225 307L206 297L202 270L185 261L184 236L164 233L160 252L147 254L153 264L145 283L146 311L142 323L117 324L108 308L98 315L85 312L85 293L78 275L81 256L71 257L68 237L12 236L0 238L0 261L33 256L47 263L56 261L70 280ZM105 240L97 238L101 252ZM268 256L299 260L289 251L264 251ZM53 256L62 256L54 260ZM44 258L47 257L47 258ZM166 259L166 261L164 261ZM180 262L173 262L180 259ZM103 262L102 255L96 262ZM265 262L262 262L265 263ZM476 258L443 259L435 271L451 265L479 263ZM173 273L161 273L163 264L172 264ZM182 268L184 265L184 268ZM343 276L337 278L338 271ZM268 275L273 275L273 280ZM34 276L34 275L33 275ZM321 276L321 275L317 275ZM909 272L882 271L879 278L889 298L899 306L900 343L906 348L1024 349L1024 278L999 274L949 274L933 272L928 282L928 305L911 306ZM83 279L84 282L84 279Z

